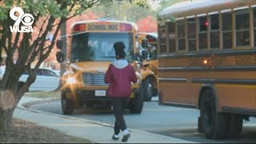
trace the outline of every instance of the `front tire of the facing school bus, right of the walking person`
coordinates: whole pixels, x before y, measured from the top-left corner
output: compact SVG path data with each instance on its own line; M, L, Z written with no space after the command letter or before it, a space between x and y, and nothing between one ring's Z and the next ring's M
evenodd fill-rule
M129 109L132 114L141 114L143 109L144 97L143 89L140 88L139 92L134 95L134 104L132 104Z

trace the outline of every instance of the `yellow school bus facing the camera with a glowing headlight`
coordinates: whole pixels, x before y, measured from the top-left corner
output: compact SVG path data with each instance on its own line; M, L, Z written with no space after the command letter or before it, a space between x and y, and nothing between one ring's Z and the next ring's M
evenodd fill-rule
M115 60L114 43L124 42L126 59L134 66L138 82L132 84L128 109L139 114L143 107L141 68L135 61L138 56L137 26L132 22L95 20L75 22L71 26L70 61L62 77L62 111L72 114L84 105L110 105L106 95L108 84L104 82L106 70Z

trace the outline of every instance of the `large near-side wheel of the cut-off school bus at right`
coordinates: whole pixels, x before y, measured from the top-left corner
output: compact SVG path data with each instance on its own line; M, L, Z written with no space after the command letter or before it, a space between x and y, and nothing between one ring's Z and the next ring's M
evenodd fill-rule
M201 129L206 138L226 138L229 128L229 115L217 112L212 90L203 92L200 105Z

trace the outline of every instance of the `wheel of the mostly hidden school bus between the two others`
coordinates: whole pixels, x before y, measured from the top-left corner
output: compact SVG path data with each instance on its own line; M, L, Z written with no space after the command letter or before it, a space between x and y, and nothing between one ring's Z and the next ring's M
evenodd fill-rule
M145 91L145 101L151 101L154 93L152 78L146 78L143 82L143 89Z

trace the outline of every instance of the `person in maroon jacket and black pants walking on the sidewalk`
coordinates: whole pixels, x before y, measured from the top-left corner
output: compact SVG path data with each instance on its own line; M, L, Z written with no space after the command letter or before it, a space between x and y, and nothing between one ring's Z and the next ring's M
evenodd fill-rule
M119 139L119 132L122 130L122 142L130 138L126 121L123 117L124 110L129 102L131 94L131 82L137 82L137 77L133 66L125 60L126 52L123 42L114 43L116 61L110 64L105 75L105 82L110 86L106 94L111 98L114 107L114 135L113 139Z

